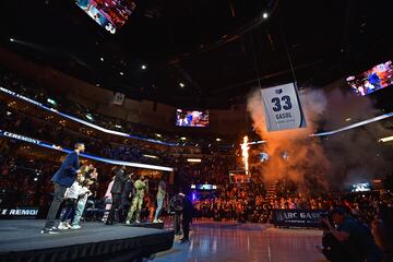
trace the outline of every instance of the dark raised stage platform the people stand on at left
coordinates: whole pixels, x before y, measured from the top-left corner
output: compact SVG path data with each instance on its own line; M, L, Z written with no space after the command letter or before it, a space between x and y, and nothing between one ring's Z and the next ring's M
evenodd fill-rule
M44 221L0 221L0 262L141 261L171 249L174 231L156 228L81 224L78 230L41 235Z

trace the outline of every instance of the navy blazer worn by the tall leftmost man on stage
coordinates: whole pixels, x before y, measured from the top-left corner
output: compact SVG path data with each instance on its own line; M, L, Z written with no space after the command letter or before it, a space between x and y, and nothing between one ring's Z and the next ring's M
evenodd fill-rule
M52 181L70 188L75 181L76 170L80 168L79 156L76 152L70 153L64 162L61 164L60 169L53 175Z

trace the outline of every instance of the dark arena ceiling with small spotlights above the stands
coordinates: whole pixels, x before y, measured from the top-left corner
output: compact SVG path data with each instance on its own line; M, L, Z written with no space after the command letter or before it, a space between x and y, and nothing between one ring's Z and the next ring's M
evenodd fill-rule
M2 1L0 45L132 98L193 108L225 108L259 84L293 81L288 55L303 86L392 55L388 1L135 2L111 35L73 0Z

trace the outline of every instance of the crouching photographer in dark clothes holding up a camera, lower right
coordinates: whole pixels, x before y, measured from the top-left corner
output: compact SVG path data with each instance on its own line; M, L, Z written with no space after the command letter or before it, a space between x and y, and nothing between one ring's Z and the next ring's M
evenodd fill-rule
M333 237L344 245L344 258L341 261L367 261L379 262L382 260L382 252L377 247L370 229L354 218L347 216L343 209L334 209L331 216L337 228L326 218L322 222L327 226Z

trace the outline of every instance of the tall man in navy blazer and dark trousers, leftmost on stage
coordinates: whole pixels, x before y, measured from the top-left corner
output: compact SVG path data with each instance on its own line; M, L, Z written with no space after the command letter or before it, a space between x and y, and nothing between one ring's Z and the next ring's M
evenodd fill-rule
M55 184L53 200L50 204L48 216L45 223L45 227L41 234L57 234L58 230L55 227L56 215L59 211L59 206L63 201L67 188L75 181L76 175L81 174L79 154L83 153L85 145L83 143L76 143L74 145L74 152L70 153L64 162L61 164L60 169L52 177Z

